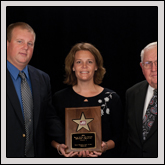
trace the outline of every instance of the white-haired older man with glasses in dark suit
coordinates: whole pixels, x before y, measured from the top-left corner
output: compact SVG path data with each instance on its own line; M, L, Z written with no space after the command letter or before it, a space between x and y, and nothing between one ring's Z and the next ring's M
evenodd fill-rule
M125 157L158 157L157 42L141 51L145 81L126 92L123 151Z

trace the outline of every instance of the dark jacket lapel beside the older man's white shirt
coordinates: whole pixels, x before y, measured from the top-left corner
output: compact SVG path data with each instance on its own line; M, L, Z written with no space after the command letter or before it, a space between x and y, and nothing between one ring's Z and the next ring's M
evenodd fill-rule
M144 109L144 102L145 102L145 97L146 97L146 92L147 92L147 87L148 84L145 82L142 84L141 88L139 91L136 93L135 99L137 105L135 105L135 119L136 119L136 125L137 125L137 130L138 130L138 135L141 140L143 141L142 138L142 116L143 116L143 109Z

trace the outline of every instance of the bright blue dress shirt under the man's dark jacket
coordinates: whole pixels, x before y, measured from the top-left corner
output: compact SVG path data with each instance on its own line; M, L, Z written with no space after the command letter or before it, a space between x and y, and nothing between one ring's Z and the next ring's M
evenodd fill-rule
M22 114L24 117L24 112L23 112L23 104L22 104L22 99L21 99L21 77L19 76L19 70L12 65L9 61L7 61L7 69L10 72L11 78L13 80L13 84L15 86L16 93L18 95L18 99L21 105L22 109ZM21 72L24 72L26 75L26 80L30 86L31 92L32 92L32 86L31 86L31 81L29 77L29 72L28 72L28 66L26 66Z

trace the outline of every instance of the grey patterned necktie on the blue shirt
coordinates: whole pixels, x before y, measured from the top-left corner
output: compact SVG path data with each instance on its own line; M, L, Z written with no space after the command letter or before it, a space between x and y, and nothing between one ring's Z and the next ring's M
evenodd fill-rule
M25 73L19 73L21 77L21 96L24 110L24 124L26 133L25 156L34 157L33 146L33 99L30 87L25 77Z

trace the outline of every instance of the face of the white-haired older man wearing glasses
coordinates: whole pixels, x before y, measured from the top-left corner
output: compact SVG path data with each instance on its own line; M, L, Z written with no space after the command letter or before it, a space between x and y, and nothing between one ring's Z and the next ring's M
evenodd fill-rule
M157 46L152 46L144 51L143 63L148 61L153 62L150 69L145 68L142 63L140 63L140 66L150 86L157 89L157 66L154 64L157 61Z

